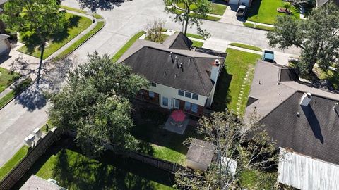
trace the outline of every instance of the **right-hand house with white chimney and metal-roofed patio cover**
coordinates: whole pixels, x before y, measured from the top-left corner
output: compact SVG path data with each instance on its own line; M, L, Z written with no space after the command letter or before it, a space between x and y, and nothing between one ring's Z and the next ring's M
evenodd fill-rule
M265 125L268 135L281 148L339 165L339 94L299 82L295 70L274 63L258 61L251 84L251 92L246 107L246 116L256 112ZM302 158L306 159L306 158ZM309 161L311 163L311 161ZM279 175L280 182L298 189L327 189L335 186L333 177L338 172L328 170L323 175L321 169L309 169L307 175L314 185L299 186L285 179L305 177L302 167L318 167L306 163L290 163ZM284 176L281 176L284 175ZM301 179L302 180L302 179ZM318 181L316 181L318 180ZM327 180L320 182L321 180ZM288 181L288 182L287 182ZM307 183L307 182L305 182ZM338 188L338 186L336 186Z

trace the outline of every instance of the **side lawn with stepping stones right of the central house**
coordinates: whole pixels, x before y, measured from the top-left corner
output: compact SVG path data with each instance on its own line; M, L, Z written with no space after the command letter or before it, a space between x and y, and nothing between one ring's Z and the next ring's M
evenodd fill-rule
M223 111L225 108L228 108L234 113L237 111L238 97L244 82L244 77L246 76L246 71L249 70L250 75L245 83L244 95L242 96L240 106L240 114L242 115L246 108L247 97L251 88L254 66L261 56L230 48L228 48L226 52L225 69L222 70L217 82L217 89L215 90L215 97L213 99L213 109Z

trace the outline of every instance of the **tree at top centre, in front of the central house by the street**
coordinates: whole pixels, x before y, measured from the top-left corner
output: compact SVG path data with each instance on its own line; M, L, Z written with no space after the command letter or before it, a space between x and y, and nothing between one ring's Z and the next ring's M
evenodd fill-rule
M174 21L182 23L184 34L187 33L187 27L196 25L198 34L209 37L207 30L201 28L202 19L210 13L210 1L208 0L164 0L165 11L174 14ZM177 5L182 5L179 8Z

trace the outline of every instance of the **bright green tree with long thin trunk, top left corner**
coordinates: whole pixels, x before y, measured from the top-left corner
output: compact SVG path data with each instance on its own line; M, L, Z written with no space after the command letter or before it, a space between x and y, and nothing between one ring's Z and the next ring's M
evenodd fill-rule
M19 32L26 45L39 46L41 51L37 85L39 85L44 48L53 34L64 29L64 11L59 11L57 0L11 0L4 5L1 19L7 30Z

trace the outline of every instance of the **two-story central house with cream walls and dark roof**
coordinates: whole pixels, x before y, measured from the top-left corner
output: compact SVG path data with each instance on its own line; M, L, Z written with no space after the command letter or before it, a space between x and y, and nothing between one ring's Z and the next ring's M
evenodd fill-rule
M201 116L213 102L226 53L192 47L182 32L163 44L138 39L119 62L150 81L139 99Z

